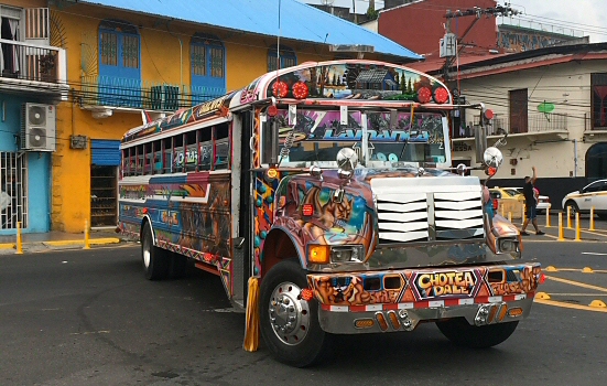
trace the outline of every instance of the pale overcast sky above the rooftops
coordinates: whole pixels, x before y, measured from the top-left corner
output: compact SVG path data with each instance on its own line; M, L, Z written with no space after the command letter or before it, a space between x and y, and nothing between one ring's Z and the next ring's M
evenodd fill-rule
M306 3L321 4L332 0L300 0ZM356 1L356 13L365 13L369 0ZM337 7L353 8L353 0L333 0ZM506 1L498 0L499 6ZM577 37L590 36L590 43L607 42L607 4L606 0L513 0L510 7L521 13L505 20L503 23L516 24L550 32L565 33ZM376 0L376 9L383 8L382 0ZM498 23L502 19L498 18Z

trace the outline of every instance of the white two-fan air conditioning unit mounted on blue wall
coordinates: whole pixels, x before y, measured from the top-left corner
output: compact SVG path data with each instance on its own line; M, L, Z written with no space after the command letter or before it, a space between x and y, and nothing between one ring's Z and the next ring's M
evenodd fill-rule
M21 150L55 151L55 106L21 106Z

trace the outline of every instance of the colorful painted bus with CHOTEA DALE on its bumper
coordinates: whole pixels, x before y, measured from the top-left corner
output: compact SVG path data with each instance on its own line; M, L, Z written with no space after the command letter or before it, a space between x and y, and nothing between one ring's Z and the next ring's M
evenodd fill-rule
M259 331L294 366L325 360L335 334L424 322L458 344L499 344L529 314L541 268L485 210L479 178L452 168L460 108L481 111L389 63L264 74L124 135L119 229L141 240L148 279L188 260L217 275L247 311L246 349ZM485 154L479 169L501 162Z

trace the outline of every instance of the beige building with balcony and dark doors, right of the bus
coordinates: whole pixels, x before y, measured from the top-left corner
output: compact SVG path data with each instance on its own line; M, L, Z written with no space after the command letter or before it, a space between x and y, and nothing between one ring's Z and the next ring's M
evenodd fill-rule
M427 63L413 67L432 73ZM560 208L566 193L607 178L606 68L607 43L485 56L453 68L448 76L462 99L494 111L488 144L508 133L503 165L490 185L522 186L534 165L536 186ZM454 164L476 161L480 117L466 112L455 119Z

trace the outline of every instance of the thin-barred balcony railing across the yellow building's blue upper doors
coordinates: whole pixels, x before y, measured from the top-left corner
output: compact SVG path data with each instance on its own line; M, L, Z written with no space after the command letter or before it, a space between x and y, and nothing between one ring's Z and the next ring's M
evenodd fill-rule
M84 106L174 111L226 94L223 87L197 87L113 76L83 76Z

